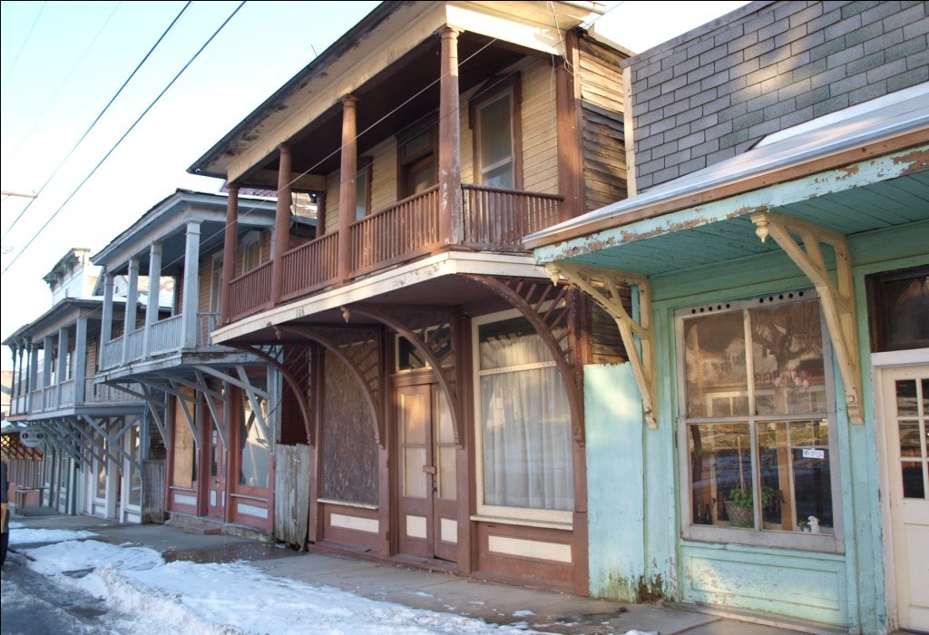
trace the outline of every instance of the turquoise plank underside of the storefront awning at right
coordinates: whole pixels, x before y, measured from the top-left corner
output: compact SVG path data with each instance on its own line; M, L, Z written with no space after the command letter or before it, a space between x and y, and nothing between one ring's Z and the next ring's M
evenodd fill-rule
M615 230L612 244L569 257L580 265L632 271L648 276L779 251L755 235L749 207L730 204L729 214L707 219L691 214L675 222L669 214L661 226L644 222ZM922 171L870 185L805 198L768 208L844 236L920 222L929 240L929 172ZM606 240L605 240L606 242ZM854 252L853 252L854 259Z

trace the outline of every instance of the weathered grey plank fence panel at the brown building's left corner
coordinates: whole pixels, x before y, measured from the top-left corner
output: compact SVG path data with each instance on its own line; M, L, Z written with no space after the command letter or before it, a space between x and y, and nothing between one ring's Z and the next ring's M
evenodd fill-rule
M274 538L303 547L309 521L309 446L274 447Z

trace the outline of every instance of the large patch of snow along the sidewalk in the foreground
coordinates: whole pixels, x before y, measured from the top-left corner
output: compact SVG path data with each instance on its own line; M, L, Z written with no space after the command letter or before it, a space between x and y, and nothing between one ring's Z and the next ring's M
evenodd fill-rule
M219 633L525 633L464 616L376 602L331 587L272 577L250 564L165 564L157 551L72 541L27 551L33 569L78 585L118 613L136 616L136 632L174 629ZM62 576L86 569L84 577Z

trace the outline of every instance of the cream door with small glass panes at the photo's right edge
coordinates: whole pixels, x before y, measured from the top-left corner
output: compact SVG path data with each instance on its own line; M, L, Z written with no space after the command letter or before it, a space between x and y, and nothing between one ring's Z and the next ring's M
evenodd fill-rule
M929 631L929 366L883 371L896 610Z

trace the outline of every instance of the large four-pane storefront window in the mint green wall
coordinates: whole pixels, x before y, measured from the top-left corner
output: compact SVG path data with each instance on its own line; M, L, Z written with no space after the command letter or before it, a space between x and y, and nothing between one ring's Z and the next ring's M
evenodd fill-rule
M688 308L677 338L685 538L839 549L816 293Z

